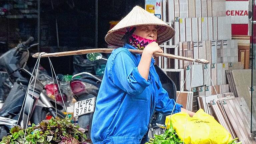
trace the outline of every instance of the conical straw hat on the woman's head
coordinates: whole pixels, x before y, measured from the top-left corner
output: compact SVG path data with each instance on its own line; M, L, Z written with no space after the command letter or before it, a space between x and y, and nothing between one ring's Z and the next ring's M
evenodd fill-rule
M164 21L143 8L135 6L127 16L108 31L105 41L110 45L122 47L124 45L122 37L127 32L126 28L139 25L158 25L156 42L159 45L170 40L175 34L175 30Z

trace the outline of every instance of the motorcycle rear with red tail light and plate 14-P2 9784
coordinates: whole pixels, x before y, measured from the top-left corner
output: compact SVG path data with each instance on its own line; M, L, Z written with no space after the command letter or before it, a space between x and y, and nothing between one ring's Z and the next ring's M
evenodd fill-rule
M79 77L79 78L77 78ZM91 139L91 123L101 79L88 72L72 77L70 88L77 102L74 104L74 117L78 116L78 125L85 128L87 138Z

